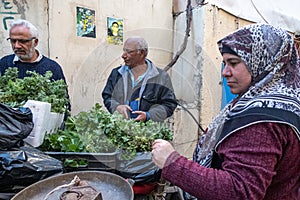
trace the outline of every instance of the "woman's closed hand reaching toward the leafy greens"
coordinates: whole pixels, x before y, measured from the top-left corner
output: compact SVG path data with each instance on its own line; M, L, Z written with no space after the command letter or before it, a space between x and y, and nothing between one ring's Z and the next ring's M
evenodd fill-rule
M152 143L152 160L158 168L162 169L173 151L175 149L170 142L157 139Z

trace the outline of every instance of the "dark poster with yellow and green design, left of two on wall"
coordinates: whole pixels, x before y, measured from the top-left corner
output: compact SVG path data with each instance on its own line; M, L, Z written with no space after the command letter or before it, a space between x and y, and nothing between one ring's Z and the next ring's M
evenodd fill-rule
M77 36L96 38L95 11L76 7Z

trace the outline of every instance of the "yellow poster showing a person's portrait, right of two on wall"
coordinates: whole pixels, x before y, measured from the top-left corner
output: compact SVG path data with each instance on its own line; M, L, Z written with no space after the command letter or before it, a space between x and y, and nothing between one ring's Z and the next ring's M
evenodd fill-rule
M123 19L107 17L108 44L123 44Z

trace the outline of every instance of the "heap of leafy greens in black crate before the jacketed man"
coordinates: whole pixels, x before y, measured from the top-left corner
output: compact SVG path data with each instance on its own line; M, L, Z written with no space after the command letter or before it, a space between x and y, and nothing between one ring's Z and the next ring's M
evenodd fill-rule
M125 152L125 156L131 157L136 152L151 151L152 142L158 138L172 140L172 133L164 123L126 120L117 112L110 114L104 111L96 103L90 111L68 117L65 130L46 135L41 148L44 151L91 153L119 149ZM67 142L70 142L69 145ZM79 149L71 149L75 143Z

